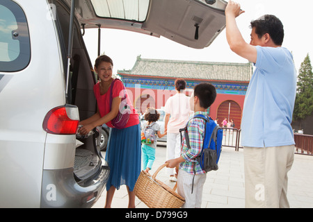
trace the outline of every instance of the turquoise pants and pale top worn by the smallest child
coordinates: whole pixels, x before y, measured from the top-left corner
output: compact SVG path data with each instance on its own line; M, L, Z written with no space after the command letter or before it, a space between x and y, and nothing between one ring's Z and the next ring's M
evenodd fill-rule
M156 122L150 123L150 125L148 125L148 122L146 122L143 124L143 130L145 130L147 126L151 126L156 134L161 128L160 125ZM157 141L154 141L153 144L142 144L141 146L142 156L141 157L143 159L143 170L147 169L147 167L152 169L152 164L155 160L156 148L157 148Z

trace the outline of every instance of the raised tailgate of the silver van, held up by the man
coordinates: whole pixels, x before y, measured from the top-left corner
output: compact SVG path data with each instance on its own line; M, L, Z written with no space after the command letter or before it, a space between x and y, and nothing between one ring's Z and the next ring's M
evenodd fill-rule
M226 5L223 0L85 0L76 1L75 8L81 28L161 35L202 49L225 28Z

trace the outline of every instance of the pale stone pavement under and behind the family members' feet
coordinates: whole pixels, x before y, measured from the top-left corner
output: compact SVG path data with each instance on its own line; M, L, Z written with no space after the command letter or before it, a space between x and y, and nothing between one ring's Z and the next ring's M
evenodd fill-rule
M105 155L103 153L103 155ZM157 146L156 160L150 171L154 171L166 161L166 147ZM218 162L218 171L210 171L204 183L202 208L243 208L245 207L243 149L223 147ZM295 154L294 164L288 173L288 200L291 208L313 208L313 156ZM168 180L166 168L162 169L157 179L174 187L175 183ZM93 208L104 207L106 190L102 193ZM126 208L128 194L123 185L115 191L113 208ZM145 203L136 197L137 208L147 208Z

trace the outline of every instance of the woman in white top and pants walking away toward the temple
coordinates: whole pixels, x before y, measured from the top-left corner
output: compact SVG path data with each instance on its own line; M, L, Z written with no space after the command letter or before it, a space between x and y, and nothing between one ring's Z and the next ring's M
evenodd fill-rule
M179 129L184 128L191 114L189 97L184 94L186 81L182 78L175 80L177 94L171 96L164 107L166 112L164 128L167 130L166 159L171 160L180 155L180 134ZM168 168L170 181L177 181L174 169Z

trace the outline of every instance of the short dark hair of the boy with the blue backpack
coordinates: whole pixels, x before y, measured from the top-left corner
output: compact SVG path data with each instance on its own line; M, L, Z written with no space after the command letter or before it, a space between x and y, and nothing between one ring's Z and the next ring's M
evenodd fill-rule
M216 89L210 83L200 83L195 85L193 95L199 98L200 106L207 109L216 99Z

